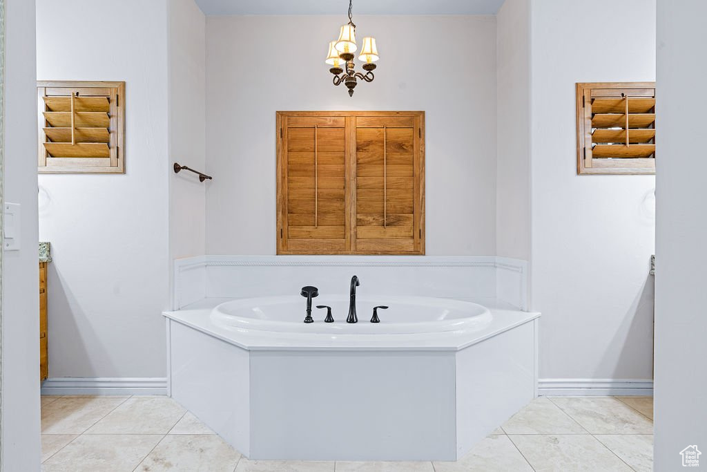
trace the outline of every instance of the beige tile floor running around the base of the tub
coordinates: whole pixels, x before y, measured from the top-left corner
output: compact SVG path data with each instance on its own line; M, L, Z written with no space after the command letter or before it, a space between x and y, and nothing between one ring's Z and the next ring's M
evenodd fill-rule
M250 461L160 396L42 397L46 472L650 471L653 398L542 397L457 462Z

